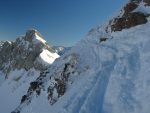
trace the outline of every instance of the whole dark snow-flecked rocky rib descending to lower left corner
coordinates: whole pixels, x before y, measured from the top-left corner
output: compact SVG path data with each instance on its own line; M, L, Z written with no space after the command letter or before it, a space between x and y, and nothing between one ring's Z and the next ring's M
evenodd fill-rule
M47 100L53 105L59 97L64 95L67 85L71 84L70 76L80 73L76 67L77 59L76 54L71 54L63 59L68 63L62 64L59 69L51 66L49 70L41 72L40 76L30 83L27 94L22 96L20 105L11 113L20 113L25 106L32 102L34 97L40 96L43 92L47 93ZM47 84L47 82L49 83Z

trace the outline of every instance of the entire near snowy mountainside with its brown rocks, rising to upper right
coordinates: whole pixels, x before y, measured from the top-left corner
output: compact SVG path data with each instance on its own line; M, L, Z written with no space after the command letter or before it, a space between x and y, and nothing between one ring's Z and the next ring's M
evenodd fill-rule
M149 0L130 0L9 98L3 83L1 112L149 113L149 16Z

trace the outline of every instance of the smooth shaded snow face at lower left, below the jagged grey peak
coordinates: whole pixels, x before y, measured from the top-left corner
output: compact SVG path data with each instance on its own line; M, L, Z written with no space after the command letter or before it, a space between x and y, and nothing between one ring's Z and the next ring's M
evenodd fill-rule
M10 113L20 103L20 99L28 90L31 81L40 76L40 71L30 69L14 70L9 78L0 84L0 111Z

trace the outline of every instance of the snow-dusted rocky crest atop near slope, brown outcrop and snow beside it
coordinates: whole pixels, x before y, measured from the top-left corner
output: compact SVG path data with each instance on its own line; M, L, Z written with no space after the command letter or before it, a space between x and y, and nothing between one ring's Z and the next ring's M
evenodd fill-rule
M88 32L87 37L100 37L99 42L101 43L108 39L112 39L113 32L146 24L149 21L149 17L149 0L129 0L129 2L120 10L118 15L115 15L104 25L91 29Z

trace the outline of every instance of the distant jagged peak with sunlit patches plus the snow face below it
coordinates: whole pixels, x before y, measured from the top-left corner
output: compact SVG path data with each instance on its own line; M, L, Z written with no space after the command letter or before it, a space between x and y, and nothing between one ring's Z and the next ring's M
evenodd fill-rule
M58 57L37 30L27 31L14 42L0 42L0 112L11 112L30 82Z

